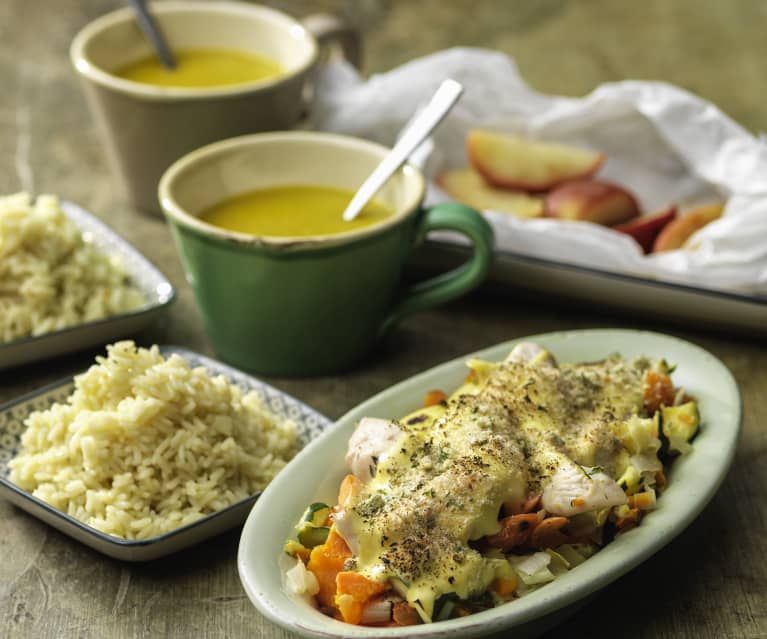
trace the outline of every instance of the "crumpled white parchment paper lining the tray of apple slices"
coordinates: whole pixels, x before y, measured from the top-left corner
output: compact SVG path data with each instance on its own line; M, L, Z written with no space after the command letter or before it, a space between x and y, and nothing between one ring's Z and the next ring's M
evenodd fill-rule
M506 55L456 48L369 80L343 62L318 77L312 126L391 145L444 78L465 93L435 132L424 170L430 178L468 164L465 138L484 126L602 151L598 177L629 188L651 213L727 201L721 219L691 238L691 248L644 255L605 227L523 220L488 212L497 248L524 255L767 295L767 144L714 105L659 82L605 84L584 98L536 93ZM447 199L434 186L427 203Z

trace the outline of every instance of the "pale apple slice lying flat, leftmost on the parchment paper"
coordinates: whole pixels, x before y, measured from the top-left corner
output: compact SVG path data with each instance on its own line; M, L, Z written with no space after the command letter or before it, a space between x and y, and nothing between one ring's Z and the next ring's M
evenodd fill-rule
M541 217L543 198L518 191L496 189L471 168L446 171L436 179L451 197L475 209L511 213L517 217Z

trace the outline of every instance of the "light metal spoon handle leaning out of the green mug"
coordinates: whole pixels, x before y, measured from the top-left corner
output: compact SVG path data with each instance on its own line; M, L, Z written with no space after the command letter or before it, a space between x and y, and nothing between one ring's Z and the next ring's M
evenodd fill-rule
M439 86L426 108L413 120L394 148L363 182L352 201L349 202L349 206L346 207L344 220L348 222L357 216L368 200L386 184L395 171L405 163L408 156L418 148L418 145L429 137L461 93L463 93L463 86L455 80L445 80Z

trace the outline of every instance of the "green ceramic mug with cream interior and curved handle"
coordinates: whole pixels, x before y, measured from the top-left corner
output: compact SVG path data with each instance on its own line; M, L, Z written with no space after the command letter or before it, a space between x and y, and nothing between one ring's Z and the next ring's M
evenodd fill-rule
M393 215L359 230L257 237L199 218L211 206L259 188L354 190L387 151L327 133L263 133L203 147L165 172L160 202L208 336L223 359L269 375L339 371L402 317L454 299L482 281L493 255L490 226L459 204L424 210L426 182L409 165L377 196ZM403 290L408 255L436 230L466 236L473 245L470 258Z

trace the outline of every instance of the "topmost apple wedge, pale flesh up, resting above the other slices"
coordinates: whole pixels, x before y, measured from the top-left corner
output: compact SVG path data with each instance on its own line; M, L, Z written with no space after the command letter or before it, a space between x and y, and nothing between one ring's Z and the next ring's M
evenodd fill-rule
M472 129L466 138L472 166L488 184L532 193L594 175L605 161L596 151Z

